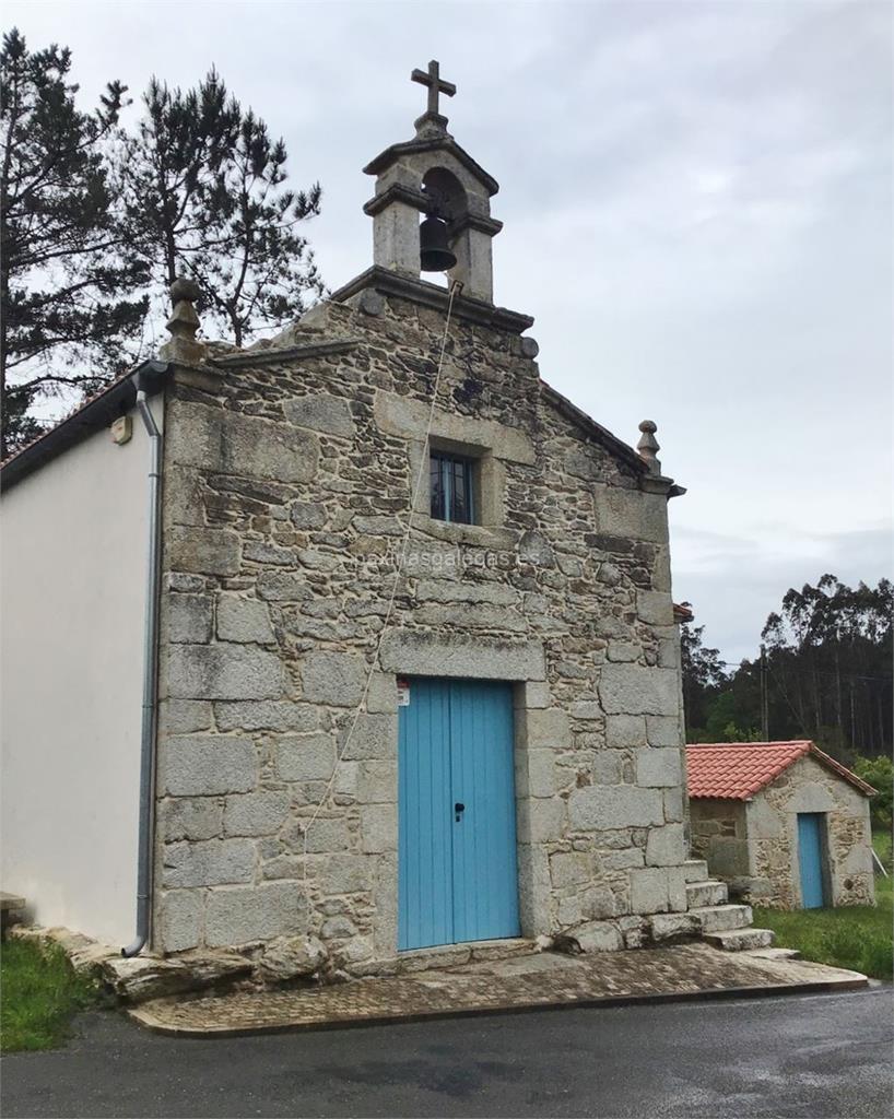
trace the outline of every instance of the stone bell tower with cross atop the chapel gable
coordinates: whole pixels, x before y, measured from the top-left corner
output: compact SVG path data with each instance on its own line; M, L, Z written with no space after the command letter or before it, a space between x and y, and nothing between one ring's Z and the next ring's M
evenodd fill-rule
M418 279L422 218L435 218L457 263L448 274L463 284L463 295L493 302L491 238L502 223L490 216L490 198L499 184L448 132L439 111L441 94L452 97L455 85L440 76L439 64L415 69L414 82L427 86L426 111L415 122L416 134L392 144L364 171L376 176L376 192L364 207L373 218L377 267ZM448 254L449 255L449 254Z

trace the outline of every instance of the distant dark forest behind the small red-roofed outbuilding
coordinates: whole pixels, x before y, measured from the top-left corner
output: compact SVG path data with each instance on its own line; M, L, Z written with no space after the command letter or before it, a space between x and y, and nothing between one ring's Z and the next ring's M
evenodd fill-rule
M891 755L894 589L824 575L766 619L764 656L738 667L683 627L687 742L812 739L845 764Z

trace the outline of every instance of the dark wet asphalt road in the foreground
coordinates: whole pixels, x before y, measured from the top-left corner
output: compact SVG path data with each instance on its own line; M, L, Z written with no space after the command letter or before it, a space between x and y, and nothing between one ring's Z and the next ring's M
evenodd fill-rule
M892 1113L892 988L561 1009L219 1041L86 1015L54 1053L2 1061L23 1116Z

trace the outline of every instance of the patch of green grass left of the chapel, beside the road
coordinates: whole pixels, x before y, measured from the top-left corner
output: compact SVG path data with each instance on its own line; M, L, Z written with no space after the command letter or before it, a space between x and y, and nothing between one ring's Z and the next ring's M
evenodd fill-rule
M100 1002L90 980L76 976L58 947L7 940L0 949L0 1049L45 1050L68 1036L78 1010Z

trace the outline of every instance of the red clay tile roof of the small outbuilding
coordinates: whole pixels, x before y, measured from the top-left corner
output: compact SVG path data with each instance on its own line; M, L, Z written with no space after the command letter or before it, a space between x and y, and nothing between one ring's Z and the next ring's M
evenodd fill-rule
M799 758L810 754L821 765L872 797L875 789L856 773L818 750L812 742L711 742L686 747L686 782L690 797L747 800Z

